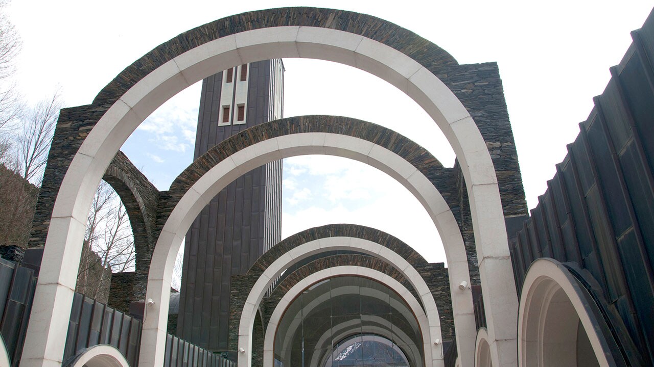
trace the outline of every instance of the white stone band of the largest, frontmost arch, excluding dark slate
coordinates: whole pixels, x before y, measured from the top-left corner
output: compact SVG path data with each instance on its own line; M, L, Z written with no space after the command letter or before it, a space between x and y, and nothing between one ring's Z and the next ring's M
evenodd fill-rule
M71 310L86 214L118 148L146 116L194 82L219 70L275 57L326 59L368 71L407 93L438 124L466 180L493 358L499 359L501 350L497 364L515 364L511 355L517 296L502 203L489 151L466 108L432 72L390 46L336 29L282 26L221 37L163 63L115 101L90 131L71 161L52 210L44 249L48 261L41 266L22 357L26 367L61 362L67 323L59 315ZM164 278L160 280L163 283ZM159 341L144 343L146 350L163 347ZM146 357L141 364L156 364L152 358L161 357Z

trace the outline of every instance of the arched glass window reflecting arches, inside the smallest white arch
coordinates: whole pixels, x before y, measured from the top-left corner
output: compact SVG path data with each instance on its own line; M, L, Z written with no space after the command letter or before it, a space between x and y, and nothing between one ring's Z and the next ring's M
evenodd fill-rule
M305 289L275 334L275 367L422 367L422 334L395 291L339 276Z

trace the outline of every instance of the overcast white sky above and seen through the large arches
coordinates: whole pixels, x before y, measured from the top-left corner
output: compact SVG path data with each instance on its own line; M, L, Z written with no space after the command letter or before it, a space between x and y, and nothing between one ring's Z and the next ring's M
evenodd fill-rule
M91 103L116 74L158 44L249 10L341 8L378 16L449 52L459 63L496 61L533 208L555 164L651 11L650 1L31 1L13 0L23 40L16 81L31 103L61 88L65 106ZM375 76L326 61L284 59L284 116L371 121L415 140L447 167L454 154L417 104ZM216 71L217 72L217 71ZM199 85L154 112L123 146L159 187L192 160ZM438 233L408 191L374 168L331 157L284 161L283 236L358 223L398 236L428 261L445 261Z

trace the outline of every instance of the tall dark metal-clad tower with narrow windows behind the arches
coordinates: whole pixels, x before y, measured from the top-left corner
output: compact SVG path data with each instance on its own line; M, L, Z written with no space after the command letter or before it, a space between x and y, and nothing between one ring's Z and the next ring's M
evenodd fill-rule
M283 116L281 59L218 72L202 82L194 159L222 140ZM228 349L230 277L281 240L282 162L247 172L220 191L186 234L177 336Z

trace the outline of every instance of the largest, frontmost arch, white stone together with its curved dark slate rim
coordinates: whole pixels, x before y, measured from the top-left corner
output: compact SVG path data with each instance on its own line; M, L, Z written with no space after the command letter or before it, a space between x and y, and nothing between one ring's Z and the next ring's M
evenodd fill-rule
M55 151L61 137L71 136L74 141L64 159L49 159L52 178L44 184L41 197L54 195L57 199L54 206L44 206L35 215L34 241L42 240L48 231L44 257L52 261L42 267L35 302L44 312L31 318L23 360L40 365L46 359L60 359L61 347L56 340L65 333L65 325L55 321L54 315L70 310L75 279L69 273L79 259L82 218L111 157L145 116L190 83L217 70L259 59L300 56L337 61L380 76L405 91L439 125L456 153L466 182L481 283L489 295L485 310L491 347L515 350L517 297L515 289L506 286L513 282L513 276L490 153L470 113L436 76L439 65L456 63L438 46L396 28L378 18L315 8L240 14L162 44L119 74L94 104L64 110ZM392 29L396 33L388 33ZM89 126L94 127L88 136L86 131L78 134L80 127ZM48 218L52 219L44 226ZM152 362L142 359L144 365Z

